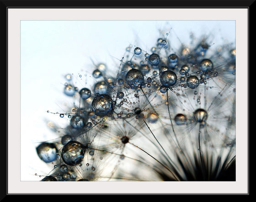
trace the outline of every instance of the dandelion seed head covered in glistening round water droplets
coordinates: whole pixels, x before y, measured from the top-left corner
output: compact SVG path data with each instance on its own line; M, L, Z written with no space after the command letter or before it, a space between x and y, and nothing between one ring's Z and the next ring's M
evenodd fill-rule
M53 165L42 181L216 180L226 171L235 156L235 46L202 38L174 50L168 35L149 52L129 45L112 69L96 65L93 86L79 89L66 75L64 94L79 104L58 113L69 122L59 140L36 148Z

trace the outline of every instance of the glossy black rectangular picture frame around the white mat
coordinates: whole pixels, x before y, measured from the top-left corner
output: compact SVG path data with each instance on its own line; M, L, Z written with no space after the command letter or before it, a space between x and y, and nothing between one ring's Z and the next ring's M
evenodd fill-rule
M255 17L255 0L0 0L0 48L1 60L0 66L5 73L5 112L6 119L4 120L5 133L0 136L0 200L10 200L13 195L22 195L27 197L27 194L8 194L8 161L7 158L7 142L8 140L8 63L7 63L7 32L8 32L8 9L9 8L246 8L248 9L248 61L250 64L249 56L254 53L254 37L250 38L249 33L252 33ZM251 30L250 25L252 25ZM250 45L250 46L249 46ZM250 66L250 65L249 65ZM249 95L249 66L248 66L248 95ZM248 96L249 107L249 96ZM248 146L249 146L249 111L248 111ZM248 147L248 154L249 154ZM249 155L248 155L249 156ZM249 162L249 157L248 157ZM248 169L248 194L239 194L249 196L249 169ZM38 197L38 196L36 196Z

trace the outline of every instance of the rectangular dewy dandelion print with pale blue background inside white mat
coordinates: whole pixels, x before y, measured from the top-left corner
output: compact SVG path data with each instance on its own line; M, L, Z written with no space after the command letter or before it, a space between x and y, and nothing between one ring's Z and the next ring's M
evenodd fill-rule
M235 20L21 20L21 181L235 181L235 84Z

